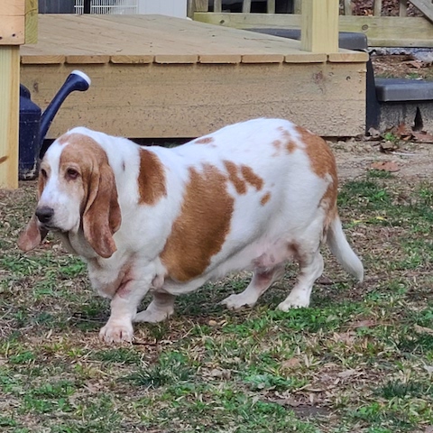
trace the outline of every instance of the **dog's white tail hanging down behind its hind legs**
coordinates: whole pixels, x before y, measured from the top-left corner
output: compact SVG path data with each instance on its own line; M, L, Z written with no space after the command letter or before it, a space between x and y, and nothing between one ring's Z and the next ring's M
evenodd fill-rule
M358 256L347 242L338 216L336 216L328 226L327 246L329 246L331 253L336 256L336 260L345 268L346 272L349 272L358 281L364 280L363 263L361 263Z

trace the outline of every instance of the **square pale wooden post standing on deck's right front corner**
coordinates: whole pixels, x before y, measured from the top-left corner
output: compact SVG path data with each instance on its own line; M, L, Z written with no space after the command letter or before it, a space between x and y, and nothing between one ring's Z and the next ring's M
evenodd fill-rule
M338 0L303 0L301 49L338 52Z

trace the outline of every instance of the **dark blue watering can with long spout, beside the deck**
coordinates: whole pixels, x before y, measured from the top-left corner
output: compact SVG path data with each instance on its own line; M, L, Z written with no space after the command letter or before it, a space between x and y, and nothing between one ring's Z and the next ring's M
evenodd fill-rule
M89 86L90 78L84 72L72 71L43 114L41 108L32 102L30 91L23 85L20 86L20 180L36 177L38 158L48 148L48 145L43 145L43 139L63 101L74 90L84 91Z

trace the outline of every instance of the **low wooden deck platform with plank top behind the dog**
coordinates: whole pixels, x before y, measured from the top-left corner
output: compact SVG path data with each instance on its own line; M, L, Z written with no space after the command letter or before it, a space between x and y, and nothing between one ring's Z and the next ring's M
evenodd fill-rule
M279 116L321 135L364 132L363 52L161 15L40 15L21 48L21 82L45 108L73 69L91 88L68 97L49 137L76 125L128 137L196 137Z

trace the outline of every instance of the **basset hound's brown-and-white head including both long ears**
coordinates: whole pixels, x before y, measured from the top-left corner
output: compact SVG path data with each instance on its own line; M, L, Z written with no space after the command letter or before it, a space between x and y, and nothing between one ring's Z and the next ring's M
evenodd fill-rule
M41 161L38 205L18 241L23 251L41 243L47 233L78 233L101 257L116 246L121 224L115 175L104 149L86 134L65 134L51 144Z

